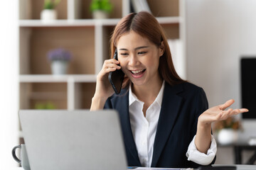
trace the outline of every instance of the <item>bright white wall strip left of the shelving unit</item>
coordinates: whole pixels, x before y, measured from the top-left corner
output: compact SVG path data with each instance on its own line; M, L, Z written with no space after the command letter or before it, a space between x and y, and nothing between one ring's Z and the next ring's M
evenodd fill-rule
M18 144L18 1L1 1L0 10L0 169L16 166Z

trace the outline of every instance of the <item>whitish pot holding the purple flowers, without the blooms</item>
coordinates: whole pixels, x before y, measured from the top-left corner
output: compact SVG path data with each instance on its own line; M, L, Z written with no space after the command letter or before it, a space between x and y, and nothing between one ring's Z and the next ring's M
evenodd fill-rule
M55 60L51 62L51 69L52 69L52 74L54 75L67 74L68 62Z

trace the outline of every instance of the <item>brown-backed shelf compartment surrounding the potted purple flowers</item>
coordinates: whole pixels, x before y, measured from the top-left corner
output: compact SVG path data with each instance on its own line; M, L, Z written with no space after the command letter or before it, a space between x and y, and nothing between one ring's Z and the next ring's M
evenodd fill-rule
M100 40L95 32L93 27L20 28L20 74L51 74L47 53L57 48L73 55L68 74L96 74L95 43Z

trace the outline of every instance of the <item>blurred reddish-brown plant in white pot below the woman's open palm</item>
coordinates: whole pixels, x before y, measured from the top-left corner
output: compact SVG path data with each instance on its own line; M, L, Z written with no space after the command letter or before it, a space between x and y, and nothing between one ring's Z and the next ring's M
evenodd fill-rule
M239 120L230 117L214 123L213 130L218 132L218 143L230 145L238 140L238 130L242 130Z

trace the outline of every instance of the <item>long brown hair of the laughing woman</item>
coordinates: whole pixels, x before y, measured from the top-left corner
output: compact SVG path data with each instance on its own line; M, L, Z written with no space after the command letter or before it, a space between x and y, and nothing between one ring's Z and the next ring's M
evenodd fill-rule
M110 42L111 56L114 55L114 50L117 47L119 38L130 30L147 38L157 47L160 47L161 42L163 42L164 55L162 55L159 60L159 74L161 78L171 86L185 82L178 76L174 69L174 63L171 59L171 51L166 40L164 29L160 26L156 18L148 12L129 13L117 23Z

